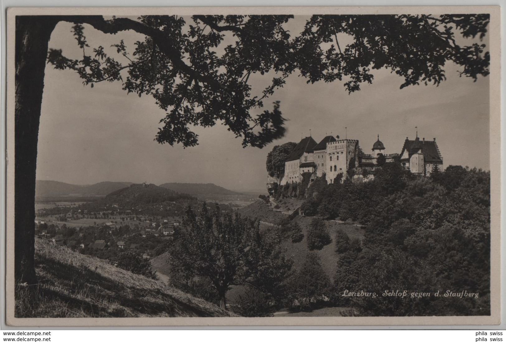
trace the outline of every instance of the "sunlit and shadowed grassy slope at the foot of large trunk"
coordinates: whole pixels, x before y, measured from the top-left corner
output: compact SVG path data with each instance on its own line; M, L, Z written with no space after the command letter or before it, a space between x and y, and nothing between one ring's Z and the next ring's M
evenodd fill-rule
M220 317L229 312L46 240L35 241L37 286L17 286L17 317Z

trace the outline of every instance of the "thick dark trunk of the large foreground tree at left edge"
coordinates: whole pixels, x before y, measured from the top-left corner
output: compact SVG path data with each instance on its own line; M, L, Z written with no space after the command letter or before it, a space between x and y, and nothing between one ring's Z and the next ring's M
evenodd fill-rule
M16 106L14 176L14 273L16 281L36 283L35 170L38 125L48 42L58 19L16 17Z

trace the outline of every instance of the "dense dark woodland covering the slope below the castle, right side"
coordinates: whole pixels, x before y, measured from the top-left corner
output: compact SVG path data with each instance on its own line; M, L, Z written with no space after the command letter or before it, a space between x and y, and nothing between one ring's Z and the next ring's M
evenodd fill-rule
M340 255L329 292L336 305L353 308L350 315L490 314L490 172L448 166L420 178L386 163L366 183L322 177L306 197L305 215L366 225L361 247L335 237ZM383 295L390 290L432 295Z

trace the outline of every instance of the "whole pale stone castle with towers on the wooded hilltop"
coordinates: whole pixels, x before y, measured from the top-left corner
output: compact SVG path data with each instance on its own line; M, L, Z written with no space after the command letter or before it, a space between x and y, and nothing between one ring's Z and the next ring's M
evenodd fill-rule
M312 137L305 137L286 158L284 175L279 184L302 182L302 175L307 173L312 174L312 179L325 175L327 183L334 182L339 174L343 174L342 179L351 177L357 181L368 181L374 178L379 155L383 155L385 162L399 161L413 174L429 176L436 167L443 168L443 157L436 138L433 141L420 140L417 134L414 140L406 137L400 154L386 154L385 150L379 135L370 154L364 153L355 139L326 136L317 143Z

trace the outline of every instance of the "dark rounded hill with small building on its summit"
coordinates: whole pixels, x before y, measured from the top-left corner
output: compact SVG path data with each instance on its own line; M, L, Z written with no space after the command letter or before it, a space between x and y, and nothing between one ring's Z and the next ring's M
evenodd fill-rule
M105 202L121 205L140 205L175 201L180 198L190 199L191 196L154 184L132 184L129 187L111 192L105 196Z

